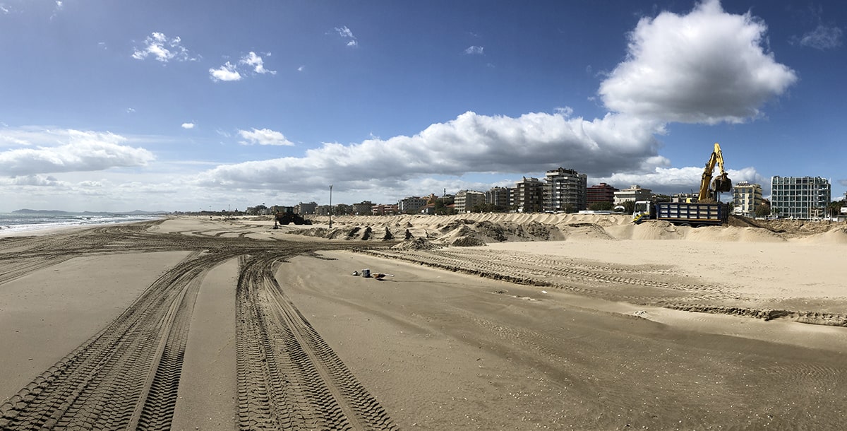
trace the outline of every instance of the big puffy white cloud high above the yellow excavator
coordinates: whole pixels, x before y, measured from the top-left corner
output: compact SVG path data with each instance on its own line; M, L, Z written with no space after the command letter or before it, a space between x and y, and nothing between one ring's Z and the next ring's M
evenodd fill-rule
M704 0L687 15L643 18L629 34L628 56L600 95L617 112L660 121L739 123L797 81L763 47L767 26Z

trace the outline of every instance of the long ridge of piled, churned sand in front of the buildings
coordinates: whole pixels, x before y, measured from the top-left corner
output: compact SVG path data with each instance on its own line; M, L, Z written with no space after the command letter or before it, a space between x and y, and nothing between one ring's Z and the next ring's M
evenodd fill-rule
M316 217L316 222L322 222ZM733 216L728 226L679 227L667 221L632 223L628 215L606 214L465 214L344 215L338 228L293 229L302 235L361 241L427 238L440 245L484 245L523 241L610 241L617 239L698 242L804 241L847 243L847 225L828 221L751 220Z

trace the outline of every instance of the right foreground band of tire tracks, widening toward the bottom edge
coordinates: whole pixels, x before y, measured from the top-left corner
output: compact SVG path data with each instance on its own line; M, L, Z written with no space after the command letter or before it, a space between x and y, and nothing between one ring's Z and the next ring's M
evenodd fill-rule
M274 278L276 257L241 258L236 322L239 426L396 429Z

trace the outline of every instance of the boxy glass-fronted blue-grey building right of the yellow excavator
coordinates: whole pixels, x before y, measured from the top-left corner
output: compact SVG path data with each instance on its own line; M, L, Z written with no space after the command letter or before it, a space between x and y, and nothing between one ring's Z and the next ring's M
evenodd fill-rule
M772 176L771 214L811 219L826 215L832 198L829 180L820 176Z

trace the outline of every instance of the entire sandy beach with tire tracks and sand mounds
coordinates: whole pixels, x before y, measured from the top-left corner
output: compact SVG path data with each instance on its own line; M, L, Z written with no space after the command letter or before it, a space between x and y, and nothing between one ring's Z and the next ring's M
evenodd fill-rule
M186 216L0 237L0 428L847 421L844 224L272 227Z

